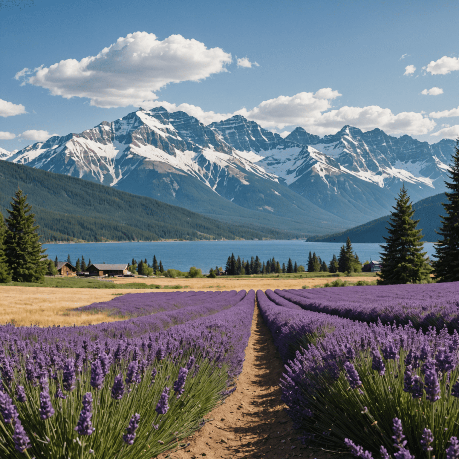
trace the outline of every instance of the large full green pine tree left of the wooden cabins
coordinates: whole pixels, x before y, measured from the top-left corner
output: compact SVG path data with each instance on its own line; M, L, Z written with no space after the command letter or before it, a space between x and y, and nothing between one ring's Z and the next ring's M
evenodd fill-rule
M35 215L29 213L32 207L27 204L27 195L23 196L20 189L12 199L11 210L7 210L10 217L6 218L8 229L5 235L5 255L12 280L43 282L46 263L41 259L45 249L42 249L40 235L36 232L39 226L34 226Z

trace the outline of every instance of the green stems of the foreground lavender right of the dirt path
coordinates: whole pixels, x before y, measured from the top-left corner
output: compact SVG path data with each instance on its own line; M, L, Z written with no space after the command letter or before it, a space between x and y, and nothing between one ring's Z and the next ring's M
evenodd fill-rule
M316 339L310 336L307 341ZM451 371L450 378L445 373L439 379L439 400L430 402L425 393L422 398L413 399L410 393L403 392L406 354L401 349L399 360L383 359L386 372L380 376L371 369L371 350L361 351L353 361L362 381L362 386L356 389L350 388L343 369L337 381L327 373L311 376L316 389L305 387L302 393L313 417L305 418L302 428L314 434L312 445L343 450L343 440L349 438L374 453L374 457L379 457L381 445L394 453L397 450L392 446L392 420L397 417L402 420L408 442L406 448L416 458L429 457L419 443L423 429L428 428L434 435L432 454L437 459L444 459L449 439L459 436L459 398L451 395L453 383L459 377L459 367ZM420 368L412 370L412 375L420 375L423 379Z

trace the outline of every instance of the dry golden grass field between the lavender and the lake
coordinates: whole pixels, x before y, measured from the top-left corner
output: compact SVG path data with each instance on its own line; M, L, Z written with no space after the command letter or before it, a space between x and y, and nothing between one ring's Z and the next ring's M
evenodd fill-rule
M154 280L143 278L115 278L115 284L148 282L163 286L183 285L185 290L250 290L258 289L287 289L301 288L302 285L323 285L335 279L317 278L156 278ZM368 277L353 276L343 278L357 282L358 280L373 280ZM164 292L159 289L92 289L92 288L47 288L47 287L21 287L0 286L0 324L13 323L14 325L89 325L101 322L120 320L119 317L108 317L104 313L80 313L72 311L74 308L86 306L100 301L109 301L117 294Z

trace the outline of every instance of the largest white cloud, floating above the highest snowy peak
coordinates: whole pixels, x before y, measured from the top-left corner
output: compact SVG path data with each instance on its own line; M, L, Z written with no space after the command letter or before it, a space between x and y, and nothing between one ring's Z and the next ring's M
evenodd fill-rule
M67 59L33 71L24 68L15 78L67 99L87 97L94 106L143 106L157 99L155 91L166 84L202 80L225 72L230 62L231 54L207 49L195 39L171 35L160 41L154 34L135 32L97 56Z

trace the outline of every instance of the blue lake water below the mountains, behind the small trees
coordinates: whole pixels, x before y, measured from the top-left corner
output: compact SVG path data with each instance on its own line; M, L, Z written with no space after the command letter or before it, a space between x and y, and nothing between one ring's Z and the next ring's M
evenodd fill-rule
M338 257L341 243L337 242L305 242L305 241L168 241L168 242L104 242L104 243L74 243L74 244L43 244L47 248L48 257L52 260L58 257L65 261L70 254L71 260L76 263L77 258L84 256L88 263L130 263L136 260L147 259L151 264L153 255L156 255L165 269L174 268L188 271L191 266L201 268L202 272L215 266L225 266L231 253L241 258L249 259L258 255L260 260L267 261L274 257L287 264L289 257L293 263L306 266L309 251L325 260L327 264L335 253ZM353 244L354 252L360 261L379 260L381 247L379 244ZM426 242L424 250L432 258L434 244Z

